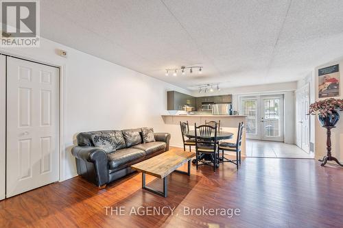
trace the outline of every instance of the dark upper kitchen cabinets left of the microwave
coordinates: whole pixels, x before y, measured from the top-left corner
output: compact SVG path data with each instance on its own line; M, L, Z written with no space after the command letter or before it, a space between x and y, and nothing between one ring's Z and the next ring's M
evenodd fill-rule
M196 107L196 98L182 92L167 92L167 110L184 110L185 105Z

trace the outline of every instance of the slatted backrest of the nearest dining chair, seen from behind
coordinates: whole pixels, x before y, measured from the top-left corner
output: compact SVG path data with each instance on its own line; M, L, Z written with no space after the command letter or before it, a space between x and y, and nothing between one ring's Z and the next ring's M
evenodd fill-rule
M213 145L213 150L215 151L217 147L217 125L212 127L211 125L200 125L196 126L194 124L194 129L196 131L196 148L198 144Z

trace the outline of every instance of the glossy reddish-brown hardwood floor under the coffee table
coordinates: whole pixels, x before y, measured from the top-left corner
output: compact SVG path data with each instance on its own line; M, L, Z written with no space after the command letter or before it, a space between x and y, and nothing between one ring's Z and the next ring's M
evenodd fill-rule
M182 167L186 170L186 166ZM98 190L81 177L0 201L0 227L343 227L343 169L315 160L248 157L234 164L192 165L191 177L172 173L168 197L141 190L134 173ZM147 175L147 185L162 188ZM173 215L134 215L142 208ZM123 216L106 215L106 208ZM125 207L125 208L124 208ZM187 208L240 210L239 216L187 215ZM150 211L148 211L150 212ZM196 211L194 211L196 212ZM151 212L152 213L152 212Z

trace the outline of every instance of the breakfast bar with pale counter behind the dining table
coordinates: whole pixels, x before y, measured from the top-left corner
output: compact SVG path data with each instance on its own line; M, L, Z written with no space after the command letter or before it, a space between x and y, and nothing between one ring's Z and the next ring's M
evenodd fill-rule
M235 143L237 140L237 129L238 124L243 122L246 126L246 116L243 115L162 115L163 121L166 125L170 125L171 128L180 131L180 122L188 121L189 127L194 128L194 123L197 125L204 125L205 121L220 121L220 130L228 131L233 133L233 138L226 141ZM178 134L181 135L181 134ZM181 144L181 139L176 138L172 142L174 146ZM180 142L178 142L180 141ZM246 129L243 131L242 142L241 142L241 155L246 155Z

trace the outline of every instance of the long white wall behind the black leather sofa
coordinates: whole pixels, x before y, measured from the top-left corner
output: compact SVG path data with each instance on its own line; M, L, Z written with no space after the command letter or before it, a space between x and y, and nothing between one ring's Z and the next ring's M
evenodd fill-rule
M57 55L57 49L67 51L68 58ZM71 148L80 131L149 126L154 127L155 132L180 134L167 129L161 114L168 114L167 90L189 94L187 90L43 38L40 48L0 49L0 52L62 66L64 148L61 179L76 175Z

